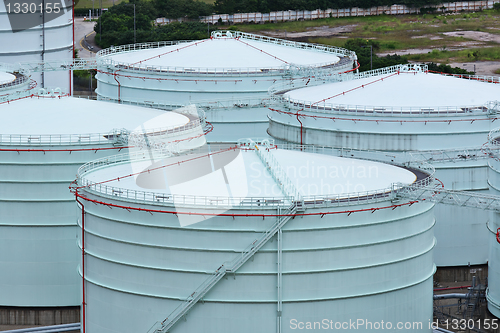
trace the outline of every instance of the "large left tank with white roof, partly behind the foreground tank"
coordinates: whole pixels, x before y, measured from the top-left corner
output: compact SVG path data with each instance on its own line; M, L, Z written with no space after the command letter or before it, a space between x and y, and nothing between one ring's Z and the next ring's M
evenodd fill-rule
M158 148L168 140L197 147L200 123L57 93L4 102L0 115L0 305L77 306L77 212L68 187L78 167L128 151L128 137L138 148L144 135ZM142 134L131 133L138 126Z

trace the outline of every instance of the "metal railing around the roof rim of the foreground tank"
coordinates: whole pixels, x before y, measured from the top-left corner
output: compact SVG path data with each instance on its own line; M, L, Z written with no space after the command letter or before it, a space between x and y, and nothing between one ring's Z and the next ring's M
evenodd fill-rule
M227 146L221 146L227 148ZM214 147L211 146L211 151L213 152ZM237 147L235 147L238 149ZM289 150L300 150L303 151L304 146L288 146ZM230 148L232 149L232 148ZM334 151L334 150L332 150ZM204 152L207 153L205 148L198 148L191 153ZM189 158L190 154L183 155ZM129 177L134 177L140 173L150 172L151 169L144 169L135 174L129 175L116 175L116 178L110 180L103 180L101 182L90 181L86 178L89 172L97 170L104 167L110 167L112 165L133 163L133 162L144 162L151 159L158 161L162 158L171 157L170 154L166 154L164 151L138 151L131 154L119 154L110 157L101 158L95 161L88 162L78 169L77 183L79 189L84 188L85 191L90 191L98 193L99 195L112 198L120 201L128 201L133 203L141 203L148 205L160 205L167 207L209 207L209 208L230 208L230 209L249 209L249 208L276 208L283 207L290 204L290 202L297 202L298 198L279 196L279 197L225 197L225 196L197 196L197 195L177 195L171 193L162 193L154 191L141 191L127 189L123 187L116 187L106 185L111 181L124 180ZM177 162L176 162L177 163ZM429 187L434 184L434 168L431 165L421 164L419 170L425 172L428 176L423 179L415 181L411 185L412 188ZM162 168L157 167L157 168ZM321 208L321 207L341 207L341 206L352 206L359 204L367 204L374 202L387 201L393 199L396 196L397 191L401 187L406 186L404 184L391 184L387 188L371 190L371 191L361 191L353 192L347 194L324 194L324 195L310 195L304 196L300 199L307 208ZM223 215L223 214L222 214Z

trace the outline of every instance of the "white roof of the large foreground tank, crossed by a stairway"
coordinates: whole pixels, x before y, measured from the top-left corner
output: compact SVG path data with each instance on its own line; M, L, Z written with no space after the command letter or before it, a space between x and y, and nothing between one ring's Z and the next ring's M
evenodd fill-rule
M166 158L154 164L138 161L110 165L86 172L83 177L94 183L120 177L119 181L106 182L105 185L131 191L154 191L160 195L222 198L228 197L229 193L232 197L283 198L283 193L255 151L239 152L236 158L234 151L225 153L233 154L231 162L225 165L220 165L215 159L217 154L213 155L214 159L206 155L198 155L203 157L196 159L189 155ZM393 183L410 184L416 180L415 174L409 170L379 162L281 149L272 149L270 154L304 198L363 196L365 192L387 191ZM156 171L147 171L154 168L157 168ZM201 171L203 168L209 168L208 172ZM122 178L140 172L137 177ZM142 176L145 178L141 180ZM144 184L151 184L152 187L144 187Z

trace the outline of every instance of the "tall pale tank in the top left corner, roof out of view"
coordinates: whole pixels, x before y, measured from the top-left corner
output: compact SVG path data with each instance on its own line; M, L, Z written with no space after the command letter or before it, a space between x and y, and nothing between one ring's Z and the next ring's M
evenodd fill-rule
M26 4L31 5L27 11L17 8L15 2L0 3L0 40L3 44L0 62L17 64L72 60L73 3L45 2L45 15L40 14L41 4ZM33 5L37 5L38 12L34 12ZM47 13L48 7L51 13ZM65 92L71 92L70 74L70 71L37 72L32 73L31 78L37 82L38 87L59 87Z

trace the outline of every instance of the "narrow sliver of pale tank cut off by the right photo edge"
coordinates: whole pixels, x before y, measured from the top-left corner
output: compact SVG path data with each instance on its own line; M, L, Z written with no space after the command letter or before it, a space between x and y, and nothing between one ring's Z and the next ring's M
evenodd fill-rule
M500 130L491 131L487 149L490 152L488 159L488 185L492 194L500 195ZM491 212L488 222L490 256L488 261L488 310L500 318L500 213Z

